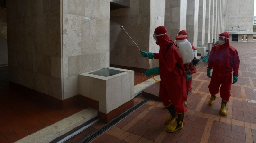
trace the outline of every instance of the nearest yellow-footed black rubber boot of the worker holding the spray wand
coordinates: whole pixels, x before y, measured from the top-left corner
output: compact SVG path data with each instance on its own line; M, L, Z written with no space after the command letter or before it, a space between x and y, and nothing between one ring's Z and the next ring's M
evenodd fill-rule
M183 127L183 119L185 113L176 113L176 120L175 123L171 126L167 127L167 132L175 132Z

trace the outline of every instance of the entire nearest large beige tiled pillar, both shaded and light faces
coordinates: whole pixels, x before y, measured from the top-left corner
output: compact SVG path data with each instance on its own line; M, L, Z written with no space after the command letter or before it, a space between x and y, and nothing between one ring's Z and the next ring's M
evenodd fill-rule
M64 100L78 94L78 74L109 67L109 0L9 0L7 7L10 81Z

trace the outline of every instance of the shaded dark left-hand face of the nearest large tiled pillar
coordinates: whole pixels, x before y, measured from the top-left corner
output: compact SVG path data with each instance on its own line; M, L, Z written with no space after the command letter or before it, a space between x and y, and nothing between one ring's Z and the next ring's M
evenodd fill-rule
M6 2L9 80L62 100L60 1Z

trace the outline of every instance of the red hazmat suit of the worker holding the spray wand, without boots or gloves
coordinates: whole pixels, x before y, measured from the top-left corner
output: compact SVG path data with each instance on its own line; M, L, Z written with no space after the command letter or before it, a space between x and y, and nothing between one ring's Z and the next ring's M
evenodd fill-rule
M165 34L167 30L164 26L155 29L155 34ZM184 113L187 108L184 106L186 101L186 78L183 71L176 65L183 68L182 58L172 40L167 34L158 36L157 45L160 46L159 53L154 53L154 58L159 59L160 91L159 99L165 106L173 103L176 112ZM169 43L173 45L167 50ZM184 70L184 69L183 69Z

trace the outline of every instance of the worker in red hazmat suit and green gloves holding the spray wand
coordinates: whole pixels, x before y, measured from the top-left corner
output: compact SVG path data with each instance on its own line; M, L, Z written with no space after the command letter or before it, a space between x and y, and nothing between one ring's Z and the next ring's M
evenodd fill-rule
M167 30L164 26L157 27L153 37L156 44L160 46L159 53L141 51L141 55L149 59L159 59L159 67L147 69L145 75L149 77L152 74L160 73L159 99L170 112L165 122L167 124L171 123L176 118L175 123L167 127L167 131L175 132L183 127L184 113L187 111L184 106L186 101L186 77L183 73L182 58L174 42L169 39L166 33Z

